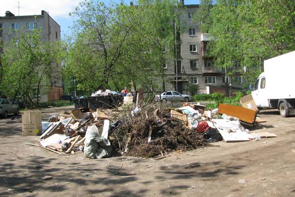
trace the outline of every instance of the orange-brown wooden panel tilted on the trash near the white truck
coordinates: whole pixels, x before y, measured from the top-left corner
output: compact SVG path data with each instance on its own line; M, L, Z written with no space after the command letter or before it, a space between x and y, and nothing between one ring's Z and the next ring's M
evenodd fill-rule
M257 111L224 103L219 104L218 113L226 114L228 116L234 116L239 120L250 124L253 124L255 122L257 115Z

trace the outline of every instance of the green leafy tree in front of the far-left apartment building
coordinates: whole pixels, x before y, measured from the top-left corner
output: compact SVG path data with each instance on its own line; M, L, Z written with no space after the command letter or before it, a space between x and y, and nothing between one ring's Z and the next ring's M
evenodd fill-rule
M20 98L28 108L46 94L50 82L59 78L54 72L59 62L59 42L43 43L41 29L16 31L3 45L0 93ZM55 67L55 68L54 68ZM59 78L60 79L60 78Z

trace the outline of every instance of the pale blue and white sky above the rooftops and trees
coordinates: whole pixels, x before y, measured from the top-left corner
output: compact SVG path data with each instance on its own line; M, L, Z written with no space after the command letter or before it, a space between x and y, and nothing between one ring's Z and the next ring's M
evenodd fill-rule
M75 18L69 16L79 5L81 0L0 0L0 16L5 16L9 10L15 16L40 15L41 10L49 12L49 15L60 25L61 38L71 33L69 27L73 25ZM102 0L109 3L110 0ZM121 0L112 0L121 2ZM130 0L123 0L129 4ZM133 0L136 1L136 0ZM199 4L200 0L184 0L184 4Z

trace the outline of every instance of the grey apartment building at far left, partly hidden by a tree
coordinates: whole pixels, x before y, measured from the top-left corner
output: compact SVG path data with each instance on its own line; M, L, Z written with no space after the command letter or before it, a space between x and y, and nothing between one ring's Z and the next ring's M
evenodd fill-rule
M31 31L34 28L41 28L43 43L50 41L56 42L60 40L59 24L44 10L41 15L15 16L10 11L5 12L5 16L0 17L0 41L8 41L11 39L11 30ZM61 65L55 63L53 65L53 73L49 85L46 85L46 93L41 95L41 101L47 102L57 100L63 95Z

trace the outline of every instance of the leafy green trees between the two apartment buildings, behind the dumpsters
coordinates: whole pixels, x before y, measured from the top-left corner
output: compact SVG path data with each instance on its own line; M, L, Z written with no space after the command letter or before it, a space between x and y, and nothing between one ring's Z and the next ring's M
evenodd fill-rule
M177 0L138 0L136 6L81 2L71 13L79 19L68 41L64 78L70 83L74 77L84 92L159 88L155 79L162 81L163 63L174 54L178 6Z

